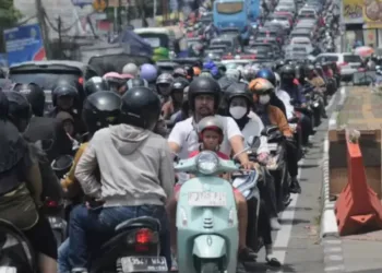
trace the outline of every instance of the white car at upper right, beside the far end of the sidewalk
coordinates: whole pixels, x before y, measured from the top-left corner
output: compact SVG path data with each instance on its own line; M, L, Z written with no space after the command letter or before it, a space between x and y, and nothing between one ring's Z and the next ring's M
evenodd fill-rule
M353 74L358 71L362 63L361 57L354 54L320 54L315 58L315 62L335 61L341 71L341 78L344 81L351 81Z

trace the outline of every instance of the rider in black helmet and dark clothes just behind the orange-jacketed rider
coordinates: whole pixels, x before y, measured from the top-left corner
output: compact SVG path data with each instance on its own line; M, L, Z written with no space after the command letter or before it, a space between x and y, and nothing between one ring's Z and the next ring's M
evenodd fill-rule
M307 108L306 97L302 94L302 87L296 84L296 71L290 64L286 64L282 68L280 72L282 85L280 88L286 91L293 99L293 105L296 107ZM312 122L310 118L302 114L300 116L300 123L302 129L302 144L309 144L309 135L312 133Z

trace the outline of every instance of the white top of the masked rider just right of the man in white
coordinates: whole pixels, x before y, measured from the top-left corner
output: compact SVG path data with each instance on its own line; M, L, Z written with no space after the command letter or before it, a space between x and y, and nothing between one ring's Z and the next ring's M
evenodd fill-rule
M253 111L250 111L248 114L248 117L250 118L250 120L247 122L247 124L241 131L242 135L244 136L246 144L250 136L260 136L260 146L258 149L258 154L270 153L270 150L267 147L267 138L261 135L261 131L264 129L263 121Z

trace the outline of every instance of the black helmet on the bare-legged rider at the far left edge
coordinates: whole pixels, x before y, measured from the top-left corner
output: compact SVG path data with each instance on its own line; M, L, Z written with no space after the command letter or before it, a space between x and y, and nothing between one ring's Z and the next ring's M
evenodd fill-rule
M32 107L26 97L15 91L4 92L9 102L8 117L17 127L20 132L24 132L32 118Z

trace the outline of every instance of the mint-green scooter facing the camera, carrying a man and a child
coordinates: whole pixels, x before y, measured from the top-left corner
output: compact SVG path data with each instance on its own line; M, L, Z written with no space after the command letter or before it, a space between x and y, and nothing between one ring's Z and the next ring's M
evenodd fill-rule
M193 174L177 206L178 266L181 273L236 272L238 217L232 186L218 174L239 170L214 152L182 159L176 171Z

